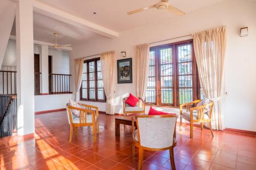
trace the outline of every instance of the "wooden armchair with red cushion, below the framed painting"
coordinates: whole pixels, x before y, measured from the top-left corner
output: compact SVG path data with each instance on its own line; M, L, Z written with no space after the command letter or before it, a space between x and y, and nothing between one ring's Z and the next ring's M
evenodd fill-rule
M125 103L125 101L128 99L128 97L123 98L123 115L126 116L127 114L132 113L144 113L145 114L145 102L143 99L138 98L139 101L137 103L137 106L132 107Z

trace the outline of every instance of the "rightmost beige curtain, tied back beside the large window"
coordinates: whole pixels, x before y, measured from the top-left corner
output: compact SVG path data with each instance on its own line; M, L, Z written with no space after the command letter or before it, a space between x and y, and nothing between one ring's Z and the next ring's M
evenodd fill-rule
M226 27L194 34L194 49L200 83L205 98L215 101L212 111L212 129L223 130L223 69L226 48Z

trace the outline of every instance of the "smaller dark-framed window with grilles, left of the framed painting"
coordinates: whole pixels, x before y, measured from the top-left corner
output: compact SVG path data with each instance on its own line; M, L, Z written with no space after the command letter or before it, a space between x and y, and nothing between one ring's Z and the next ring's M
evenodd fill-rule
M83 62L80 98L88 101L106 101L99 58Z

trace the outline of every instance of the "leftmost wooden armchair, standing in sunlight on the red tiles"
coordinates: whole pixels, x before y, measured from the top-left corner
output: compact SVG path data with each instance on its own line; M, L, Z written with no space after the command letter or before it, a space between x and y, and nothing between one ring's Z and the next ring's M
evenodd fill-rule
M75 134L77 135L77 127L83 127L83 126L91 126L93 127L93 142L96 142L96 133L99 133L99 111L98 107L91 106L91 105L85 105L80 104L81 107L84 108L78 108L70 106L70 104L67 104L67 114L70 124L70 137L69 142L72 140L73 136L73 127L75 127ZM72 114L72 110L79 111L79 117L74 116Z

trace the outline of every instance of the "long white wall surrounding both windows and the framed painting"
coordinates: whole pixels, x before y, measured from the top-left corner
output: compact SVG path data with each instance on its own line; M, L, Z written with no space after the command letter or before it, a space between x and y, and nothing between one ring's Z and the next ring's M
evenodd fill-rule
M71 74L74 75L74 58L110 50L115 50L116 60L122 59L121 51L126 52L126 58L133 58L134 45L226 26L225 82L228 95L225 99L225 112L223 112L224 127L256 131L255 9L255 1L227 0L181 17L175 17L165 23L151 23L144 27L125 31L120 33L117 38L95 39L86 44L75 46L71 52ZM240 37L240 28L245 26L249 28L249 36ZM135 75L133 74L133 76ZM133 80L135 79L133 78ZM72 87L74 89L74 85ZM135 82L117 84L115 78L116 113L122 113L121 99L127 96L129 92L135 93ZM94 103L94 105L103 107L101 103ZM163 109L166 110L166 108Z

